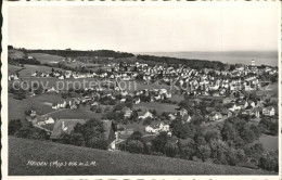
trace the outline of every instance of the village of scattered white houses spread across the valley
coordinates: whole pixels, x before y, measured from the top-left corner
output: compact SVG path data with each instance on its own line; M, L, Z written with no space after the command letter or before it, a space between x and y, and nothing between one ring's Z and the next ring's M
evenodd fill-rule
M28 56L28 60L31 59L34 57ZM61 62L75 63L77 60L66 57L62 59ZM29 75L30 77L53 78L57 80L88 78L102 81L103 83L95 87L84 87L79 90L59 90L52 86L41 89L42 92L37 92L37 94L34 91L29 91L28 95L34 98L41 93L61 94L63 99L51 104L54 112L67 108L69 111L77 110L80 105L86 106L87 104L91 111L102 114L101 106L110 105L111 107L105 107L105 111L108 112L107 114L112 113L116 115L110 116L115 118L111 120L114 120L117 127L114 128L116 129L115 141L114 143L111 142L114 150L116 150L118 143L126 141L130 134L140 128L144 137L154 138L159 132L166 132L169 137L172 137L172 129L170 127L172 120L180 118L182 124L187 124L197 118L197 115L189 111L185 106L177 106L177 103L185 99L191 100L192 106L205 103L205 110L201 116L203 124L225 121L225 119L231 116L239 116L239 114L249 116L258 124L261 116L273 117L277 114L277 107L274 108L271 105L278 103L275 102L275 98L258 95L256 93L255 95L243 93L261 90L270 83L270 81L259 79L259 75L272 76L278 74L277 68L269 66L261 68L256 66L254 60L252 60L251 65L238 65L232 70L230 70L230 65L225 70L214 70L211 68L196 70L180 64L178 66L150 66L149 64L139 62L131 64L125 62L120 62L119 64L111 63L106 66L108 67L106 70L99 69L95 73L60 72L53 68L50 72L33 72ZM18 80L18 78L21 77L17 77L17 74L9 75L10 81ZM139 85L148 85L149 88L123 89L120 82L124 81L138 81ZM166 88L150 88L151 85L163 85ZM77 91L79 92L77 93ZM177 93L177 91L182 94L180 102L174 101L172 98L172 93ZM206 102L209 102L209 104ZM220 106L216 107L215 102L217 104L220 103ZM172 111L163 110L162 113L157 114L154 108L139 108L139 104L142 103L171 104L176 108ZM117 105L123 107L114 110ZM62 120L53 118L51 113L38 115L33 108L26 111L29 111L26 115L26 120L48 131L51 134L51 139L53 133L59 133L57 130L62 133L64 129L70 129L72 131L75 127L75 123L66 123L73 120L70 116L66 117L68 120ZM164 116L161 117L162 115ZM77 123L77 119L74 119L74 121ZM138 128L132 128L129 121L142 123L137 125ZM54 128L57 127L57 124L62 124L61 129ZM70 127L66 127L68 125ZM115 144L116 142L117 144Z

